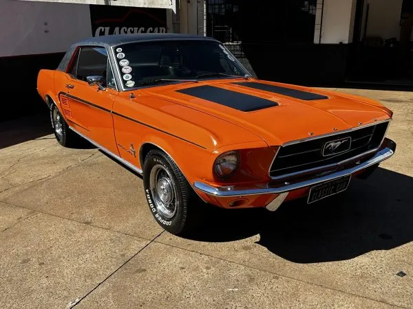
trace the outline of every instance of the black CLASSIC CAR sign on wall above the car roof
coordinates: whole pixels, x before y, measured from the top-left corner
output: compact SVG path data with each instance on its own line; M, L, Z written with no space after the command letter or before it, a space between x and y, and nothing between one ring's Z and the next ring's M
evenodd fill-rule
M90 5L90 20L94 36L167 32L165 9Z

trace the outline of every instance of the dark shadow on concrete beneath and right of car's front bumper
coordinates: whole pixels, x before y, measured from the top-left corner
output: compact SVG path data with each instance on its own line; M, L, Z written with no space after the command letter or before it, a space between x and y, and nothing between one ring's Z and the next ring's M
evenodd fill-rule
M257 244L296 263L348 260L413 240L413 178L379 168L353 179L347 192L307 205L215 210L191 239L228 242L260 235Z

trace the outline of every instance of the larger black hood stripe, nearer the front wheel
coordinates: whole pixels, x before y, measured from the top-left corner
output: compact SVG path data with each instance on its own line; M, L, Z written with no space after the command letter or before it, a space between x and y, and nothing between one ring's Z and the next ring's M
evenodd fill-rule
M244 112L278 106L277 102L213 86L192 87L176 92L222 104Z

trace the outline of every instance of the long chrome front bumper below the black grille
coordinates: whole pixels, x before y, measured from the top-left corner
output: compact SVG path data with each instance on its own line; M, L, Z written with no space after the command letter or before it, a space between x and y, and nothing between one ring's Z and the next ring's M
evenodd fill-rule
M324 183L325 181L331 181L343 176L348 176L354 172L359 172L369 166L380 163L385 159L389 159L394 154L394 150L389 147L383 148L377 152L374 157L368 159L363 163L359 163L352 168L346 170L341 170L326 176L319 176L314 179L308 179L306 181L299 181L297 183L282 183L279 185L261 184L255 185L253 187L242 187L242 186L225 186L225 187L213 187L207 183L202 183L200 181L195 181L193 183L194 187L206 194L218 197L231 197L231 196L248 196L248 195L260 195L260 194L282 194L284 192L290 192L293 190L300 189L302 187L308 187L310 185L317 185L317 183Z

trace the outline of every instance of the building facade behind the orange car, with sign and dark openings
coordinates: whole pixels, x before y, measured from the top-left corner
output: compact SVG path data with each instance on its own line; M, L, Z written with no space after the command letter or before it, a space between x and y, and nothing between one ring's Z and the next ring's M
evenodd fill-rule
M266 80L409 84L412 24L413 0L2 0L3 87L30 100L0 117L36 111L39 69L89 36L207 35Z

